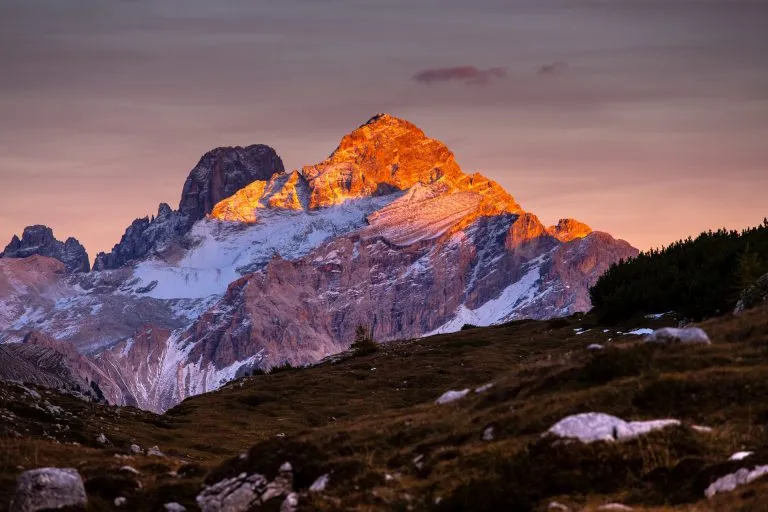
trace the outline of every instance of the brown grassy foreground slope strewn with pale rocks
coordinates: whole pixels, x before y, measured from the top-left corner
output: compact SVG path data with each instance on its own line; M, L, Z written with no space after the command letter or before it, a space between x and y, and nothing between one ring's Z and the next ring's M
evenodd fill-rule
M21 437L0 438L0 503L21 467L77 467L94 510L117 495L128 496L131 508L155 509L167 501L193 505L205 479L243 470L274 474L289 460L302 488L333 471L327 492L313 494L309 509L527 510L557 500L588 508L621 501L651 509L768 510L760 499L768 482L703 499L714 477L768 463L768 310L705 322L709 347L642 346L616 327L574 333L593 321L517 322L394 343L362 357L242 379L164 416L44 395L73 411L62 418L20 405L30 400L5 385L0 409L15 417L0 418L0 428ZM635 326L673 322L641 319ZM587 352L595 342L609 348ZM494 386L485 393L434 404L448 389L488 382ZM714 432L684 427L588 446L541 439L563 416L587 411L675 417ZM482 440L488 426L495 432L490 442ZM109 446L95 442L99 432ZM157 444L170 456L115 457L132 442ZM249 447L248 457L237 457ZM724 462L744 448L758 453ZM421 463L414 464L417 456ZM142 472L141 489L119 471L125 464Z

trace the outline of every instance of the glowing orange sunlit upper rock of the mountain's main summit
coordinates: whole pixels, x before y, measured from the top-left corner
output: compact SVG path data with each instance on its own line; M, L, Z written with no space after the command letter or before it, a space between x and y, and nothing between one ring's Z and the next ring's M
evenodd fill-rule
M500 185L461 171L453 153L408 121L378 114L346 135L331 156L300 172L255 181L219 202L211 217L253 223L258 210L315 209L350 199L405 192L369 221L379 235L407 242L420 232L455 231L480 216L522 213ZM395 233L407 218L410 233Z

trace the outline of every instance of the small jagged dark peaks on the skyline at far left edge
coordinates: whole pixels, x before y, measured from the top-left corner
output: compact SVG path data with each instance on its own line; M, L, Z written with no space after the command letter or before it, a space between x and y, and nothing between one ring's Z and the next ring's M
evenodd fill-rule
M21 239L13 236L0 258L27 258L33 255L49 256L64 263L67 272L88 272L91 269L88 253L75 238L65 242L56 240L48 226L27 226Z

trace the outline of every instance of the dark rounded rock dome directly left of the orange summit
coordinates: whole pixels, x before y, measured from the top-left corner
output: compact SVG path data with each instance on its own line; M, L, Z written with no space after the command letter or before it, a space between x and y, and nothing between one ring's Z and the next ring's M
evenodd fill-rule
M283 171L283 161L269 146L216 148L203 155L189 173L181 192L179 212L191 226L211 213L222 199L256 180L267 181Z

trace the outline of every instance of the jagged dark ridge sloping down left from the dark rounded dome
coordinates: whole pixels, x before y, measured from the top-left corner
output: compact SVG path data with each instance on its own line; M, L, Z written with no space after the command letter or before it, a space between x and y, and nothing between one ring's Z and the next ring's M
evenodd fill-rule
M161 203L156 217L134 220L111 252L97 254L93 270L120 268L132 261L162 252L187 231L187 217Z

